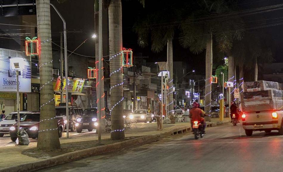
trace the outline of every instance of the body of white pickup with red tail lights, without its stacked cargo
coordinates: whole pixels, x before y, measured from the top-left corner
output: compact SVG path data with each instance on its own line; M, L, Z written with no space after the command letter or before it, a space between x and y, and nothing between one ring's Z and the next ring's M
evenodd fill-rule
M247 136L251 136L253 131L270 133L272 130L277 130L280 135L283 135L283 111L245 112L242 114L242 124Z

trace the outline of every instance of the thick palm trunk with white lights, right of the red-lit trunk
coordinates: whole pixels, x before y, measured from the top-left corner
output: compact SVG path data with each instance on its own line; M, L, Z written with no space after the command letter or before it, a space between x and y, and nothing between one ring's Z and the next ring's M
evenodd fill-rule
M122 3L121 0L111 0L108 8L109 18L109 53L110 55L122 51ZM110 73L117 71L122 66L121 55L116 56L110 61ZM116 86L123 82L122 70L113 73L110 76L111 89L111 139L121 140L125 138L124 120L123 120L123 85ZM120 103L118 103L121 101ZM118 104L116 104L118 103ZM122 131L117 131L122 130Z

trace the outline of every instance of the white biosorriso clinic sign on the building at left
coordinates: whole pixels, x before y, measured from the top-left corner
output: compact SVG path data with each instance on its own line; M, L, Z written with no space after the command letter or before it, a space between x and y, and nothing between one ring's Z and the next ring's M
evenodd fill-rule
M10 59L25 57L24 52L0 48L0 92L17 92L16 72L11 69ZM31 67L24 58L19 70L19 92L31 92Z

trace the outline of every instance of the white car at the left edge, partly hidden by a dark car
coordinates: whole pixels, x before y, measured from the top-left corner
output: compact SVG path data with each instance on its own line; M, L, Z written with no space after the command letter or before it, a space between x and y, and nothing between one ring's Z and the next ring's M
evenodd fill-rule
M20 111L20 118L29 111ZM18 119L18 112L12 112L6 116L4 120L0 122L0 137L3 137L4 134L9 134L9 129L14 125Z

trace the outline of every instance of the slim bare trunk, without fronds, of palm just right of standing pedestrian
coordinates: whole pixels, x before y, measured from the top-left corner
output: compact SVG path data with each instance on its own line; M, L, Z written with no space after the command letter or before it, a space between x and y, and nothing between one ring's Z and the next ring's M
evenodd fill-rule
M172 39L168 39L167 42L167 65L170 72L170 77L168 81L168 115L173 115L173 46L172 46Z

